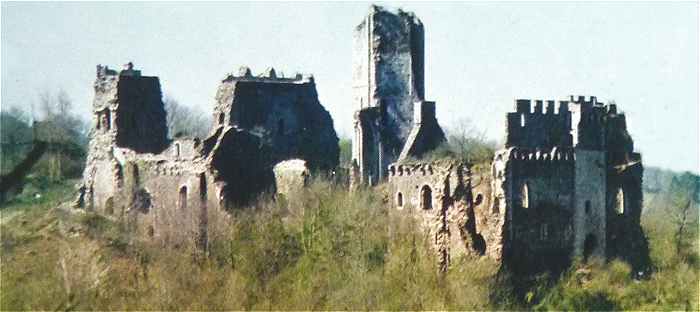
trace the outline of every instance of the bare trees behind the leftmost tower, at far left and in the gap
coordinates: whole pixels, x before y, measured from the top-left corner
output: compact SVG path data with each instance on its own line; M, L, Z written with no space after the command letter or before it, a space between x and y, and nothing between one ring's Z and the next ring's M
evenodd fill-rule
M171 138L207 135L211 116L171 96L165 96L163 102ZM65 91L44 90L30 105L6 104L0 110L0 176L7 180L3 184L30 184L35 191L81 176L93 121L76 112ZM37 154L40 157L29 164L27 173L11 174Z

